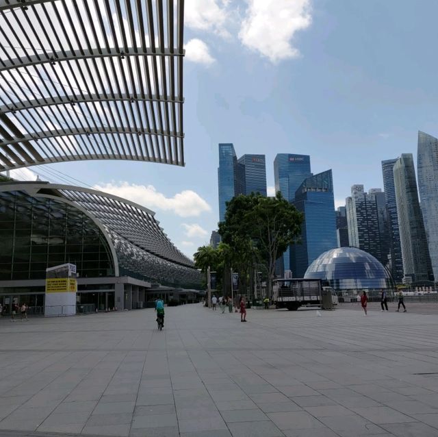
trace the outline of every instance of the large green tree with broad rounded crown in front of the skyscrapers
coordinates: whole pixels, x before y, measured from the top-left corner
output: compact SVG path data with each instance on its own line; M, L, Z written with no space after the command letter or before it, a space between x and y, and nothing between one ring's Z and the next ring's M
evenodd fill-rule
M301 232L302 214L281 192L275 197L259 194L239 195L227 203L225 220L219 223L222 241L236 250L253 242L250 258L263 260L268 276L268 295L272 296L272 279L276 260Z

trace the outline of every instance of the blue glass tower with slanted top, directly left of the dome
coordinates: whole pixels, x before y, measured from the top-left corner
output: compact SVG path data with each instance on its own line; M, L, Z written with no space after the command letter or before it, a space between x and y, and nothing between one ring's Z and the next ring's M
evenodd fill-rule
M301 229L302 244L292 245L292 274L304 277L313 260L337 247L331 170L307 177L294 197L294 205L305 214L305 221Z

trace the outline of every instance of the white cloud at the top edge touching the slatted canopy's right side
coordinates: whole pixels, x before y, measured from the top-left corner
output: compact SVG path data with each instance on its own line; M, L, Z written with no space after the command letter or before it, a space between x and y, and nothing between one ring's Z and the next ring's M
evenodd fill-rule
M184 5L184 25L196 30L214 32L228 38L228 0L186 0Z

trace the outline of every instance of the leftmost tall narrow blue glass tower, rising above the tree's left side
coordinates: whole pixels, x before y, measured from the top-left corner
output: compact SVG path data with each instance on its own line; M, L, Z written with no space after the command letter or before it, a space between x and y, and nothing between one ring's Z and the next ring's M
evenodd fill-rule
M224 221L226 202L235 196L237 157L231 143L219 144L219 221Z

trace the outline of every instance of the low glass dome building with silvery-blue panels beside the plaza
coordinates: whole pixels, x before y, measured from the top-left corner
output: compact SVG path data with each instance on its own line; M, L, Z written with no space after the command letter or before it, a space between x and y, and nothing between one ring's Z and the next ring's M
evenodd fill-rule
M309 266L305 278L322 279L334 290L351 295L359 290L378 295L383 289L393 288L381 262L357 247L339 247L322 253Z

